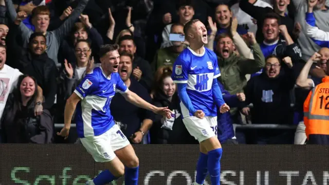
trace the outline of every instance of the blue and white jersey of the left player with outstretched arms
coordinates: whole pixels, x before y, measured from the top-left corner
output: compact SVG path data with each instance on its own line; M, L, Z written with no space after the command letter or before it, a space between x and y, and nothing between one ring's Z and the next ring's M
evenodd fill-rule
M96 67L87 74L74 91L82 99L76 109L78 137L98 136L108 131L115 124L109 104L116 92L127 91L117 72L106 77L102 68Z

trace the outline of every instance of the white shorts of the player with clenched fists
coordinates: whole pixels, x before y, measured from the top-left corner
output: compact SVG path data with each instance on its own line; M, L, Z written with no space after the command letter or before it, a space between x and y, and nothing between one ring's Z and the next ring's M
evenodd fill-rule
M205 116L204 119L189 116L183 119L183 123L191 136L199 142L217 136L217 116Z

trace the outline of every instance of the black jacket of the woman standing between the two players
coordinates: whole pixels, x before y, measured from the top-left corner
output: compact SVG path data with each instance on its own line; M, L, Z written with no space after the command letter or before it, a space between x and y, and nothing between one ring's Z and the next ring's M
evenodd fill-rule
M168 106L170 110L175 110L176 116L174 118L172 130L168 130L161 128L163 119L165 118L161 115L155 115L155 120L153 121L153 125L150 130L152 144L197 144L197 141L189 134L182 121L179 102L180 100L177 93L173 95L171 102L163 93L156 93L154 95L153 104L155 106Z

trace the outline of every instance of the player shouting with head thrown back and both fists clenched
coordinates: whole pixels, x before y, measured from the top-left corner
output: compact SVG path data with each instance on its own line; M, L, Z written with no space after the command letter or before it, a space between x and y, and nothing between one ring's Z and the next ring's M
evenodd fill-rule
M228 112L217 77L221 76L216 54L204 47L207 29L199 20L185 24L184 33L190 46L174 63L172 79L177 84L183 122L200 143L194 185L203 184L209 172L212 185L220 184L222 146L217 139L217 107Z

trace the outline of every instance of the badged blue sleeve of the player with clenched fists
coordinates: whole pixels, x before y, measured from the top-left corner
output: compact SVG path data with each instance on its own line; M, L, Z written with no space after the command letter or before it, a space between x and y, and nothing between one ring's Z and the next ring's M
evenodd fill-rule
M179 56L173 65L173 73L171 78L175 83L187 83L189 79L188 71L189 63L182 60Z

